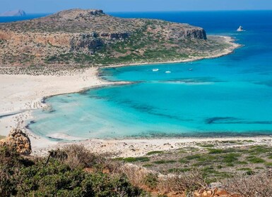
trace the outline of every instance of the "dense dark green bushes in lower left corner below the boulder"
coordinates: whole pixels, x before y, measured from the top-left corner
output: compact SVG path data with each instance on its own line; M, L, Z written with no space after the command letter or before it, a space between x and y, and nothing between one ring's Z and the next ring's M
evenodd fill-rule
M76 152L78 151L78 152ZM0 149L0 196L141 196L124 174L83 171L98 163L80 146L66 147L47 158L23 158L9 148ZM84 156L85 154L85 156ZM71 163L69 158L75 158ZM81 160L81 162L78 162ZM74 165L76 164L76 165Z

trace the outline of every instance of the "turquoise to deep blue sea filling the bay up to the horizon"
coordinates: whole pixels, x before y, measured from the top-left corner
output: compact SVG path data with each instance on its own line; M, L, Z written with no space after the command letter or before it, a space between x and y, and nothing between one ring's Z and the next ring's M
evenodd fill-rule
M112 15L190 23L243 47L192 63L101 69L106 80L135 83L48 98L52 108L35 111L33 132L83 139L272 134L272 11ZM239 25L246 31L236 32Z

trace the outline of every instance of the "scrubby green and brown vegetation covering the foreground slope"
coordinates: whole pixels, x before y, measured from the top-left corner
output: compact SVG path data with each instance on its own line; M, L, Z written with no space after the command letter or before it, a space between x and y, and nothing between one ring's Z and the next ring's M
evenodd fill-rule
M212 181L220 181L227 191L237 193L236 196L272 195L270 171L248 170L251 173L237 172L235 176L218 177L217 172L213 173L214 168L208 172L194 163L200 159L203 165L208 165L209 158L215 156L217 158L211 159L209 165L218 165L219 161L236 165L240 158L229 155L233 150L215 149L211 144L199 146L211 149L203 155L194 153L179 161L161 160L160 157L154 160L155 155L165 154L162 151L150 152L142 158L110 159L107 158L109 155L95 155L83 146L72 145L51 151L49 158L38 158L23 157L11 148L1 147L0 196L192 196L199 191L208 191ZM271 149L252 146L247 153L256 156L267 154L268 150ZM184 152L179 150L179 153ZM189 170L170 170L170 174L163 175L160 170L146 170L130 164L137 162L149 162L150 166L187 163ZM215 192L214 189L211 191Z

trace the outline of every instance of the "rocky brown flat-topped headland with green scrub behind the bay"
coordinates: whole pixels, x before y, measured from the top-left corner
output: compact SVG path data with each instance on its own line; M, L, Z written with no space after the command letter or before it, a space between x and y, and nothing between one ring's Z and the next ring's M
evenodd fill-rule
M30 65L74 68L181 61L211 56L228 47L230 44L218 37L207 39L201 27L116 18L101 10L73 9L34 20L0 23L0 65L4 70Z

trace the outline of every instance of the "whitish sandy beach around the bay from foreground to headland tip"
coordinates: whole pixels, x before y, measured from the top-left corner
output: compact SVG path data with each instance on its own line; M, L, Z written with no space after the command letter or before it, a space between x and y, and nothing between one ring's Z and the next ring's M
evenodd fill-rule
M220 53L211 54L205 58L216 58L232 53L234 49L240 47L235 44L232 38L223 37L225 42L231 44L228 49L220 51ZM162 62L177 63L186 61L196 61L201 59L189 58L182 61ZM142 63L136 65L145 65L150 63ZM134 64L135 65L135 64ZM124 66L124 65L112 65ZM101 80L98 75L97 68L88 68L78 72L67 72L67 75L1 75L0 76L0 136L6 136L12 127L24 128L28 120L32 118L32 110L44 108L46 105L42 103L42 99L47 96L57 94L68 94L72 92L82 91L93 87L100 87L114 82L106 82ZM124 84L121 82L119 84ZM49 141L32 134L28 129L25 131L30 136L32 142L32 154L46 154L51 148L57 146L65 146L67 143ZM148 151L170 150L173 148L181 148L186 144L192 144L199 141L222 141L222 140L254 140L255 144L271 143L271 137L227 137L227 138L180 138L180 139L89 139L77 142L84 144L95 153L112 153L116 156L138 156L144 155ZM75 143L75 142L73 142Z

